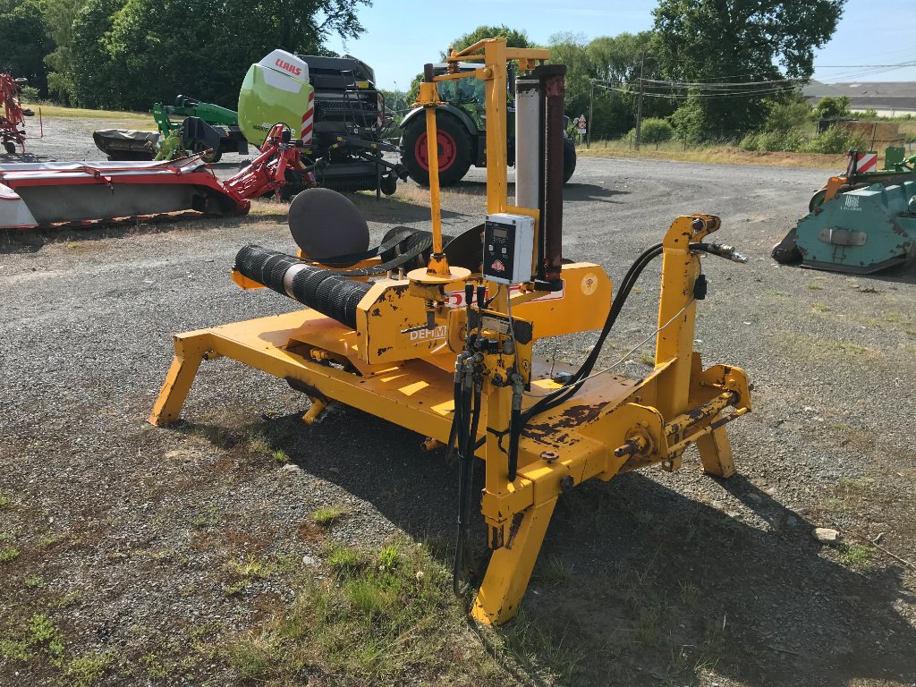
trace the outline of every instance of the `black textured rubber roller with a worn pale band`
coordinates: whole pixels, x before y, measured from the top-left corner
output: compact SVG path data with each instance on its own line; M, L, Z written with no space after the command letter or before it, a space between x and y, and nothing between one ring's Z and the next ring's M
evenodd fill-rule
M235 268L245 277L322 315L356 328L356 308L371 288L330 269L314 267L299 258L259 245L246 245L235 256Z

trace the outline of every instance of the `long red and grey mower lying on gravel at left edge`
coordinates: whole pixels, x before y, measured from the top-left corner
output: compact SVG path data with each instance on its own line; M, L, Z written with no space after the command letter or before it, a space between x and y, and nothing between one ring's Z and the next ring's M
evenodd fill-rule
M221 180L192 155L161 162L35 162L0 165L0 229L96 224L180 211L245 214L300 169L301 140L275 125L262 152ZM314 185L311 175L306 180Z

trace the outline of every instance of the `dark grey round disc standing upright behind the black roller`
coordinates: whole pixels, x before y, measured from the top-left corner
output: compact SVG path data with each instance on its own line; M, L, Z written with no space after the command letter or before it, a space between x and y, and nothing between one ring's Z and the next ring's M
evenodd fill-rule
M330 189L306 189L289 204L289 232L313 260L362 253L369 226L348 198Z

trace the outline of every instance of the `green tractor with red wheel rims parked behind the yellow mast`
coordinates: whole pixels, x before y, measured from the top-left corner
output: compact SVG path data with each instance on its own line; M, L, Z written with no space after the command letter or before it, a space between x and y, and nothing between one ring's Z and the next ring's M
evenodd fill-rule
M474 71L479 65L462 62L461 71ZM437 64L434 74L444 74L446 65ZM509 78L509 91L512 82ZM486 167L485 83L477 79L439 82L443 104L436 108L436 138L439 143L439 183L453 186L467 170ZM423 108L411 110L400 122L401 164L411 179L422 186L430 184L430 163L426 144L426 118ZM567 122L567 130L569 129ZM510 105L507 116L507 159L515 164L515 109ZM575 143L563 138L563 182L573 176L576 164Z

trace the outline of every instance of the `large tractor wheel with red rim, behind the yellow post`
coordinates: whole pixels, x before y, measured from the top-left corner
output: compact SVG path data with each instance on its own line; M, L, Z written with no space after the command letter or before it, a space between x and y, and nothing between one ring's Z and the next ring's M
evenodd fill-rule
M462 180L471 167L471 136L453 116L436 113L436 138L439 141L439 185L452 186ZM430 185L424 116L414 118L401 136L401 162L420 186Z

